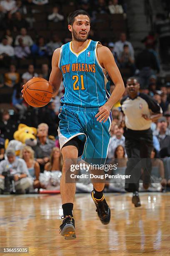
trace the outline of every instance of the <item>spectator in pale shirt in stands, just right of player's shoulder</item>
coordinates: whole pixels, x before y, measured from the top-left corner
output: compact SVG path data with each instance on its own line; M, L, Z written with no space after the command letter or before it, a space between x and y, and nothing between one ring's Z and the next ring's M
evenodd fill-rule
M120 41L117 41L115 43L115 52L117 53L117 58L120 59L121 54L123 52L123 46L124 45L128 45L129 46L129 53L132 59L134 59L134 49L132 44L129 41L126 41L126 34L125 33L121 33L120 34Z

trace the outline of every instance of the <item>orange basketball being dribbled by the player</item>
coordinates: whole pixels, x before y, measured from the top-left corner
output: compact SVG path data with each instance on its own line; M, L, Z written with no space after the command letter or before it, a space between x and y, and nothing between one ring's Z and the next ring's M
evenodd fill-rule
M23 97L30 106L43 107L52 98L52 86L44 78L34 77L25 84Z

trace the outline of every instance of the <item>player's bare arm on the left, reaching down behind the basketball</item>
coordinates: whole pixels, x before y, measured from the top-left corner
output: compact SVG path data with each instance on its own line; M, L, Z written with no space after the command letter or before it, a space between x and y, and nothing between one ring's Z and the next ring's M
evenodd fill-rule
M52 71L50 74L49 83L52 85L53 95L55 97L58 94L60 84L62 81L62 72L58 67L58 61L60 58L60 49L57 48L52 55Z

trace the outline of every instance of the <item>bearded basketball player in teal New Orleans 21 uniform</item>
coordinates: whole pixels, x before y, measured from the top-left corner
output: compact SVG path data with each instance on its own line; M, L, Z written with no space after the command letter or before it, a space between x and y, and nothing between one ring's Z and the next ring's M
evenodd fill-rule
M111 51L99 42L88 39L90 16L84 10L70 13L68 29L72 42L56 49L52 56L52 72L49 82L57 95L62 77L65 95L61 99L60 124L58 129L63 156L60 192L63 222L60 233L65 239L74 239L75 220L72 215L75 183L65 181L70 164L77 158L106 159L110 140L110 109L120 99L125 88ZM115 84L109 97L106 69ZM108 83L107 83L108 85ZM110 221L110 208L103 195L104 184L95 183L92 199L103 224Z

